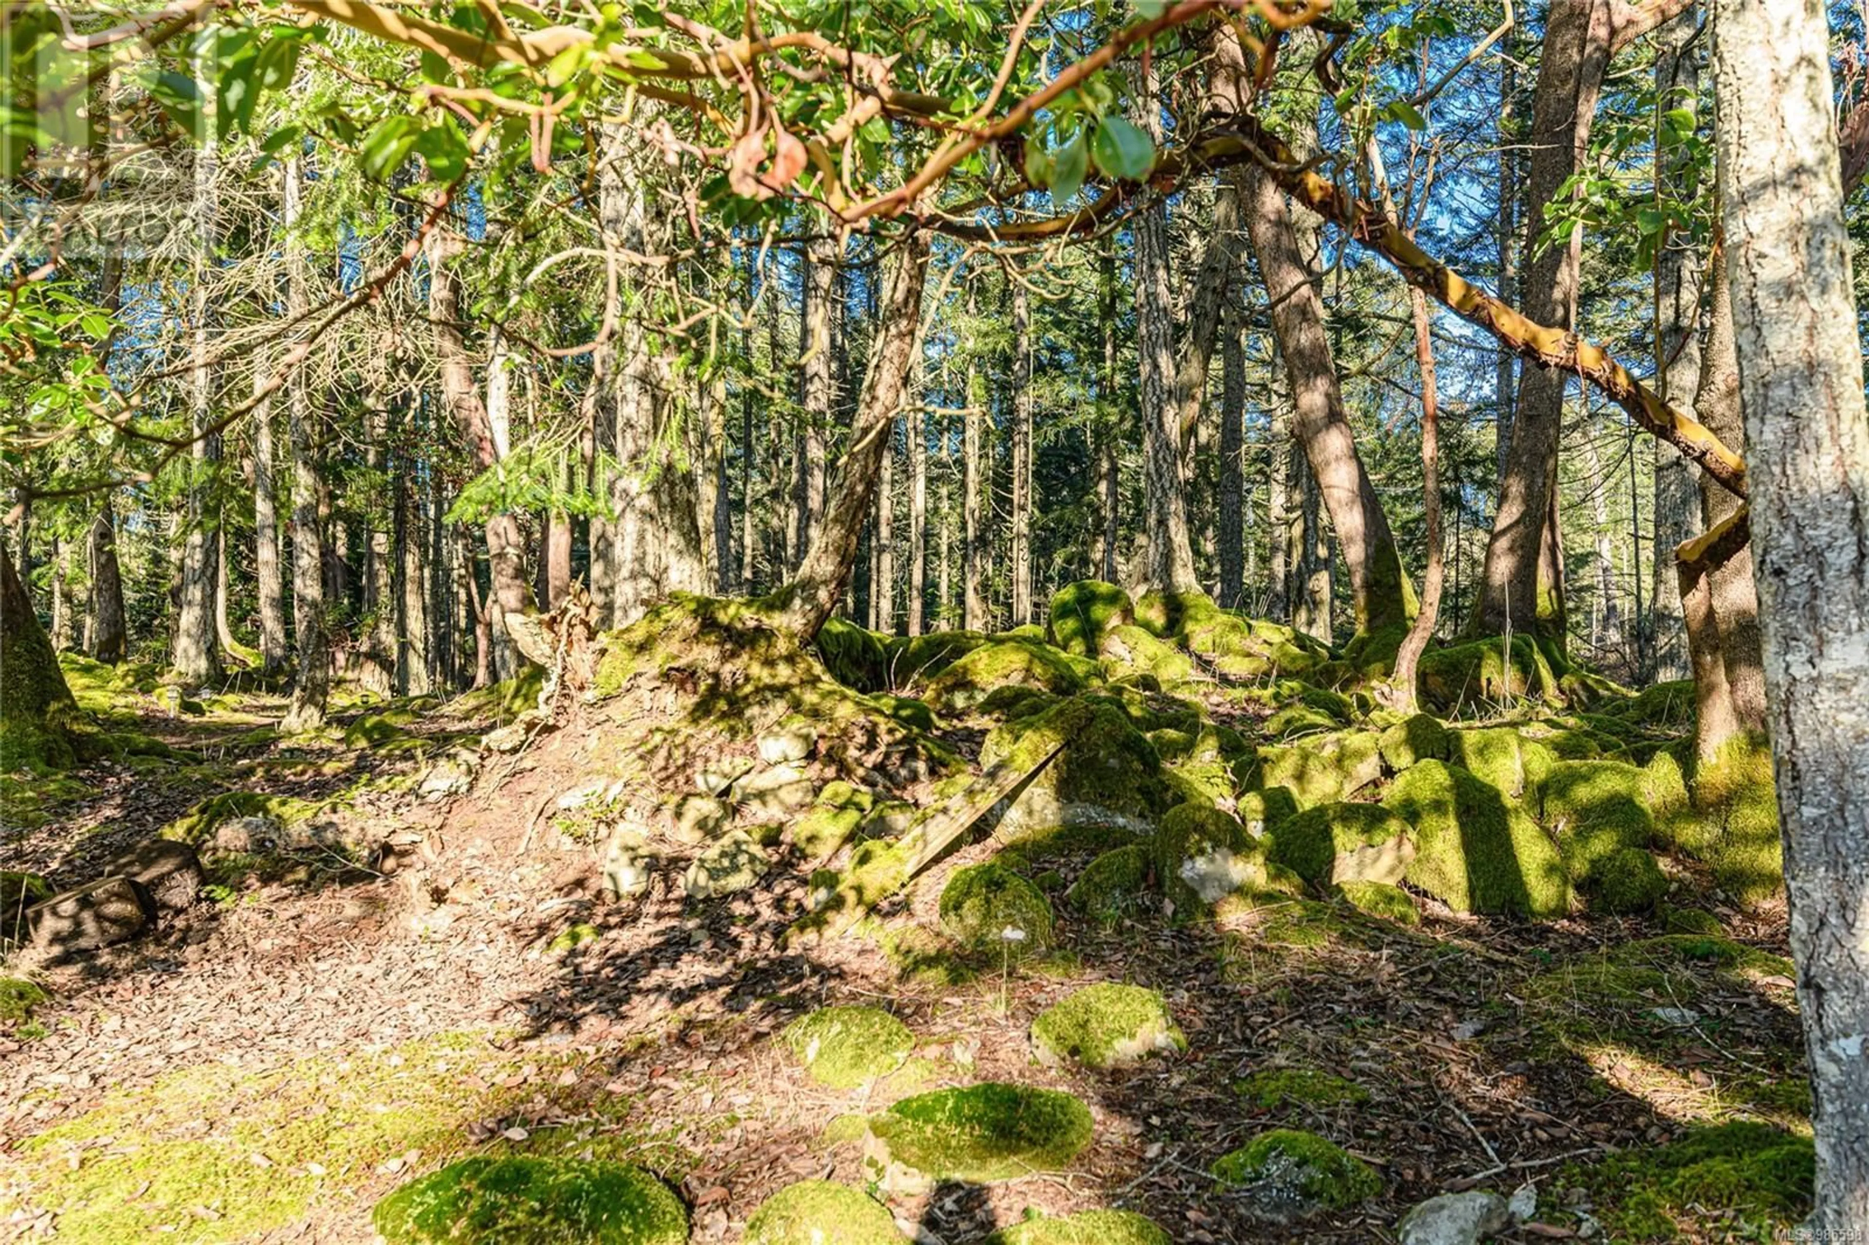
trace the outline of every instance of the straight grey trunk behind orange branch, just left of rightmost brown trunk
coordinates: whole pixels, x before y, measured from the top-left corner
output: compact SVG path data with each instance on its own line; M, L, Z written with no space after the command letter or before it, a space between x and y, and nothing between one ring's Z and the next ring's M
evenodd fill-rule
M1701 62L1691 47L1699 13L1682 13L1658 32L1656 108L1695 107ZM1693 165L1686 155L1662 168L1669 194L1693 196ZM1701 256L1686 239L1663 239L1656 254L1656 391L1663 402L1699 419L1691 406L1701 383ZM1727 445L1733 445L1727 441ZM1667 441L1654 443L1654 598L1648 619L1654 636L1654 677L1688 677L1688 636L1680 615L1675 550L1701 535L1701 505L1693 465Z

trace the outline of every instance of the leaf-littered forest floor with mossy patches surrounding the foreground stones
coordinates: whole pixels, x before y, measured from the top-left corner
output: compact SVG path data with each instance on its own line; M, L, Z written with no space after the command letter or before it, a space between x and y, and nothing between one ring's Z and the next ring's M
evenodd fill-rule
M267 729L277 695L207 708L118 697L120 725L135 720L176 759L47 783L39 824L0 866L78 884L224 791L344 796L344 817L400 854L374 869L312 854L273 880L230 879L151 937L47 968L50 1000L0 1021L0 1236L368 1241L372 1206L413 1174L465 1153L546 1153L650 1168L688 1204L695 1241L736 1241L781 1185L863 1183L862 1144L834 1122L1006 1080L1078 1095L1093 1144L1067 1174L893 1196L921 1239L977 1241L1028 1208L1121 1206L1177 1241L1381 1241L1428 1196L1525 1183L1538 1213L1499 1239L1602 1239L1635 1193L1684 1239L1749 1239L1772 1209L1751 1193L1682 1193L1615 1155L1734 1120L1807 1131L1774 905L1708 901L1714 937L1660 916L1518 923L1435 903L1420 925L1293 903L1103 927L1060 903L1058 953L905 955L920 935L903 931L936 925L942 879L994 851L972 843L869 937L792 948L794 873L701 905L673 871L639 899L596 890L600 845L557 828L553 802L598 768L621 727L606 714L622 708L579 708L441 800L417 780L497 725L488 697L419 714L394 748L342 738L361 703L314 742ZM977 753L979 731L940 735ZM1062 888L1091 854L1054 854L1043 884ZM1037 1066L1032 1019L1088 981L1159 989L1185 1054ZM776 1034L824 1004L888 1008L914 1032L914 1058L860 1090L815 1084ZM1267 1069L1346 1084L1243 1092ZM1256 1217L1207 1168L1273 1125L1336 1138L1383 1191L1303 1224Z

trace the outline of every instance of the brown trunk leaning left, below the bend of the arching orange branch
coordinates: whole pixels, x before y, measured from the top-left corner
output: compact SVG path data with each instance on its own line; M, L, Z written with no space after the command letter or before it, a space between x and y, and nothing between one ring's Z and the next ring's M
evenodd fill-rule
M1357 454L1323 331L1323 301L1297 249L1284 193L1258 168L1247 172L1247 228L1273 305L1273 333L1291 381L1291 430L1344 550L1357 630L1405 624L1407 587L1389 518Z

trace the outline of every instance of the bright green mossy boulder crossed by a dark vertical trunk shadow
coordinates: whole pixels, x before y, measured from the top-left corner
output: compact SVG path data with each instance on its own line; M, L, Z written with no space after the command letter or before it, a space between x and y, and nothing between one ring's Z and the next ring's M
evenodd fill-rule
M1557 845L1514 800L1445 761L1422 761L1383 794L1413 828L1407 880L1456 912L1562 916L1570 875Z

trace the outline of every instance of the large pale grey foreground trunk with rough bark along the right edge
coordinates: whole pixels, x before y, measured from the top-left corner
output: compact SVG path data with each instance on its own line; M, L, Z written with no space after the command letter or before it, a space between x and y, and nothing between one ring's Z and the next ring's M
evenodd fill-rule
M1714 77L1764 686L1817 1198L1869 1223L1869 411L1824 7L1716 0Z

